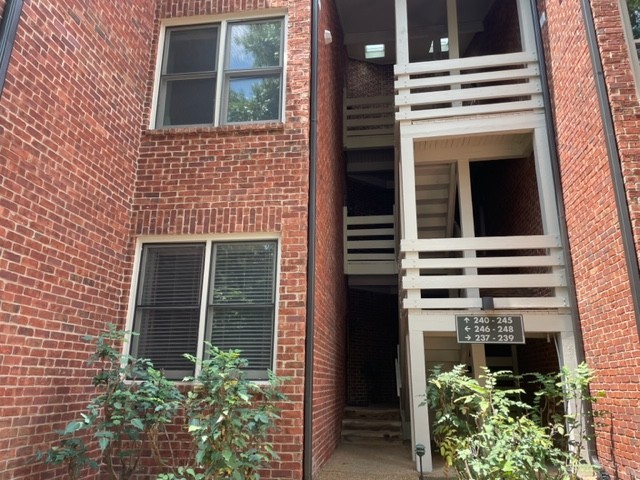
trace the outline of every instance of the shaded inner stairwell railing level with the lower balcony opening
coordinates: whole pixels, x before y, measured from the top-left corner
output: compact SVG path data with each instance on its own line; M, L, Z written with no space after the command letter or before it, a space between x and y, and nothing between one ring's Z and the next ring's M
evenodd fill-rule
M344 209L344 273L392 275L398 272L394 215L354 217Z

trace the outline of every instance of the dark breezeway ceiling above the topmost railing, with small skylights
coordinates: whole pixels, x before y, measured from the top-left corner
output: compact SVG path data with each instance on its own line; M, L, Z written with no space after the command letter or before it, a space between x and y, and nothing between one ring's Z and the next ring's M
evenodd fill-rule
M457 0L460 45L464 51L473 36L483 29L483 20L494 1ZM349 57L365 60L367 44L384 43L384 58L375 63L395 63L395 1L336 0ZM411 61L420 61L420 52L428 52L435 38L446 37L447 0L407 0L409 34L412 37Z

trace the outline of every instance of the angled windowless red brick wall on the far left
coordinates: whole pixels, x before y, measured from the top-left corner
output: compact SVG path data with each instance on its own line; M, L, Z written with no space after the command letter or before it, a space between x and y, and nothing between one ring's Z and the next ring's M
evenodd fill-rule
M63 478L35 452L93 391L82 337L107 322L123 325L126 311L153 8L145 0L89 4L25 2L0 99L6 479Z

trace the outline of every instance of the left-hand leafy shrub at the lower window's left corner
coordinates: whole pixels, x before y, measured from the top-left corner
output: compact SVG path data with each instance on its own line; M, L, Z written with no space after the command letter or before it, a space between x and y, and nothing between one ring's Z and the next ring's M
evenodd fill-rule
M47 463L66 464L71 480L79 478L85 467L98 468L100 462L110 480L132 478L149 439L171 423L183 399L149 360L117 350L125 336L109 325L97 338L85 338L96 344L89 366L99 368L93 385L100 393L89 402L81 419L57 432L62 437L60 445L44 454L38 452L38 458ZM98 444L98 460L91 458L92 450L85 444L88 435Z

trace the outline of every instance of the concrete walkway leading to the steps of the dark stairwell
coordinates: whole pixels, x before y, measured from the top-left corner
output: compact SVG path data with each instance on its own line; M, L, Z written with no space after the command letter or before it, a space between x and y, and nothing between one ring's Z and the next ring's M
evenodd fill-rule
M455 472L443 471L442 461L434 465L434 471L425 473L425 480L455 478ZM316 480L418 480L420 474L411 460L407 445L343 443Z

